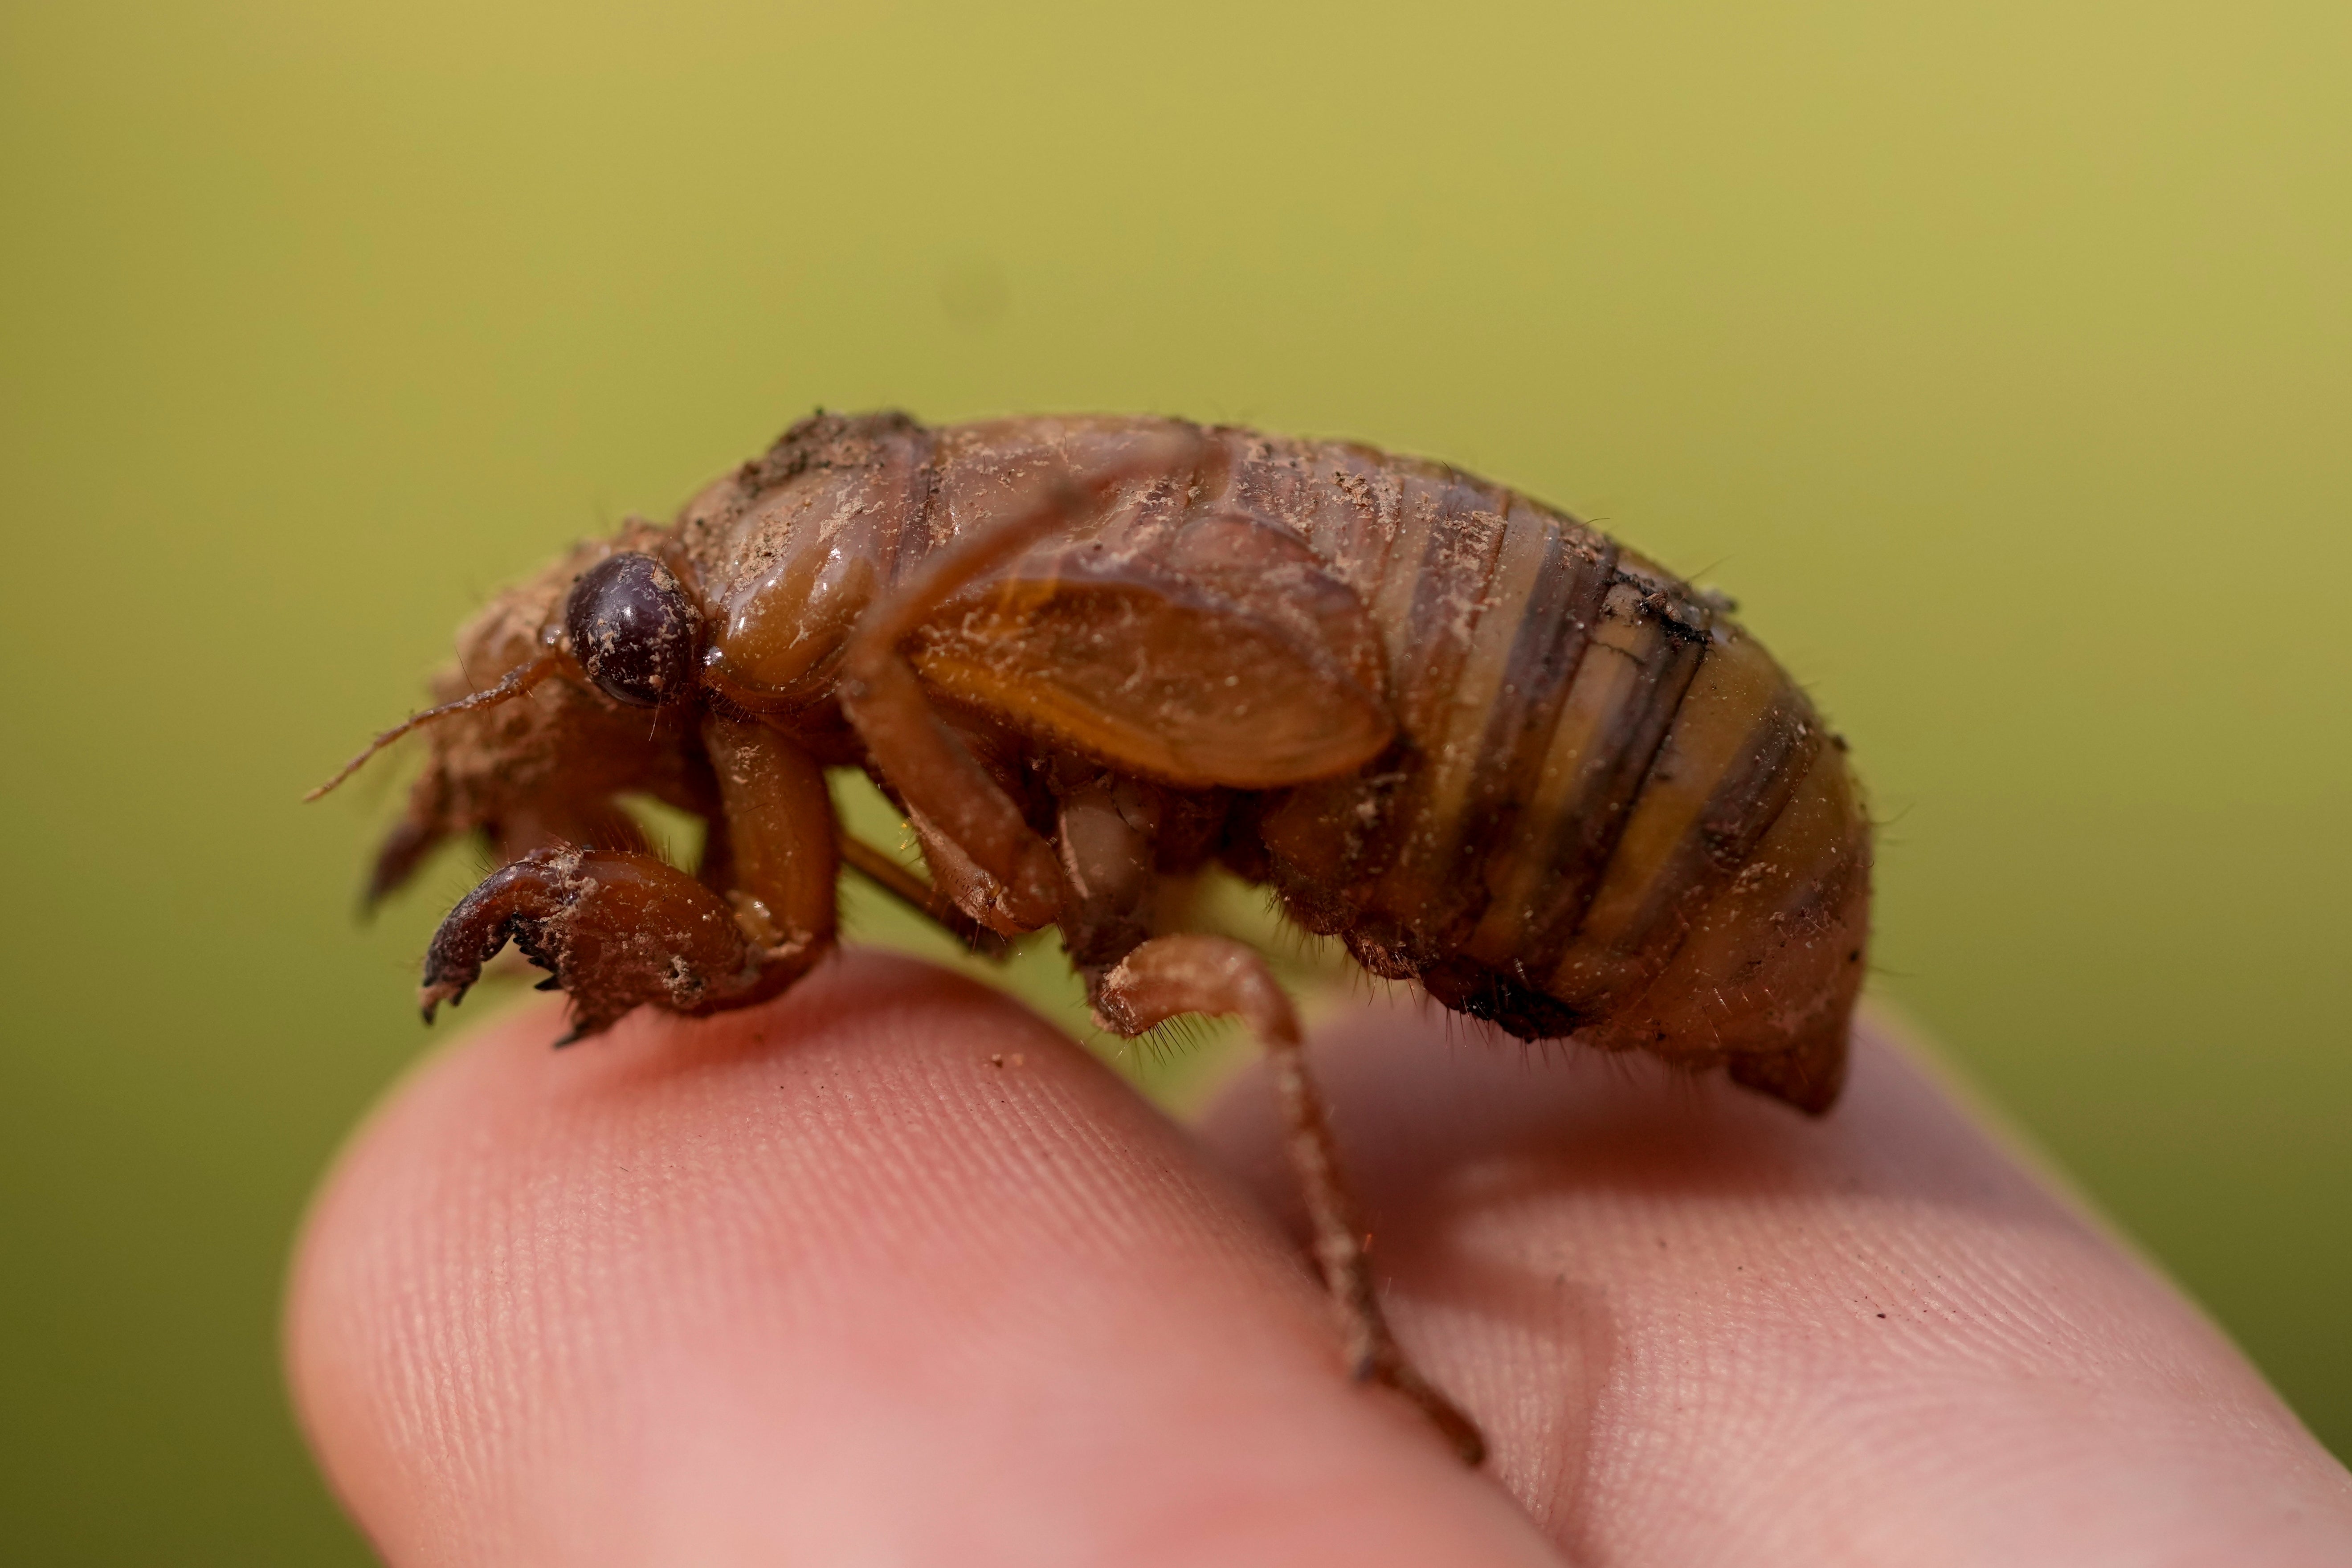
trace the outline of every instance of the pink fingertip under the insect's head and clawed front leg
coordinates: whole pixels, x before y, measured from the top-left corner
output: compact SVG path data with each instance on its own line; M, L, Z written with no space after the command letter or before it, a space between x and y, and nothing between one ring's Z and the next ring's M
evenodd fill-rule
M849 957L555 1030L419 1070L299 1253L296 1401L397 1568L1552 1561L1018 1006Z

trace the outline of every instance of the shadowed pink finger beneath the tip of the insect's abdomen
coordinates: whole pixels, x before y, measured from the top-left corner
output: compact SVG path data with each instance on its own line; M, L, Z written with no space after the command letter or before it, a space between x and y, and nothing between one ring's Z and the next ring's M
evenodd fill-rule
M1411 1006L1315 1070L1399 1333L1576 1561L2352 1561L2352 1476L1884 1027L1820 1121ZM1204 1138L1298 1225L1263 1086Z

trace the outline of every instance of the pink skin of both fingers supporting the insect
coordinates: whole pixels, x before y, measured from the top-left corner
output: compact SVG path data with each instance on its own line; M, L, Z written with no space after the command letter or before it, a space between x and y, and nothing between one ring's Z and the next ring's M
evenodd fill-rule
M395 1568L2352 1563L2352 1476L1884 1037L1816 1124L1409 1006L1324 1034L1475 1474L1341 1380L1261 1084L1185 1133L868 954L557 1027L426 1063L301 1246L296 1399Z

